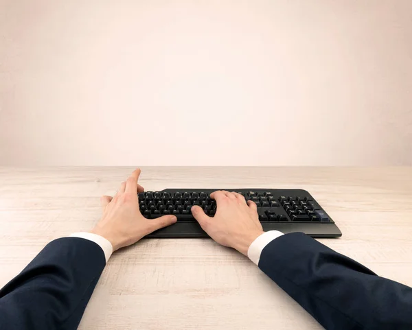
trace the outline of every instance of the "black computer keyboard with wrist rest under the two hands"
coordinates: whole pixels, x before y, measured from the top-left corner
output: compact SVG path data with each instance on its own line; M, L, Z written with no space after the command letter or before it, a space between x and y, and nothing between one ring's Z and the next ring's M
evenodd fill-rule
M209 194L216 190L236 191L258 205L264 231L303 232L312 237L342 235L332 218L301 189L165 189L139 193L141 214L148 219L173 214L176 224L162 228L148 237L208 237L190 211L199 205L210 217L216 214L216 201Z

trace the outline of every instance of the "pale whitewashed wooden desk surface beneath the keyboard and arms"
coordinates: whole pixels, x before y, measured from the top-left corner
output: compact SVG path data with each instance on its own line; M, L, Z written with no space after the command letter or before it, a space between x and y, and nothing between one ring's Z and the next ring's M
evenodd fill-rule
M0 167L0 286L57 237L88 231L131 167ZM303 188L343 232L323 244L412 286L412 168L148 167L147 190ZM79 329L321 329L249 259L210 239L115 253Z

